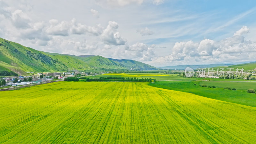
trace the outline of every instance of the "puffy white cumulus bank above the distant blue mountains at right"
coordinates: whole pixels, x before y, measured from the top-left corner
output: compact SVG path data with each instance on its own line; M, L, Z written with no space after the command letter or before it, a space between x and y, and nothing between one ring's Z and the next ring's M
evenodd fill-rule
M193 41L177 42L172 53L158 57L156 64L176 63L178 65L194 62L216 63L237 60L255 60L256 41L247 41L243 34L249 33L249 28L243 26L234 36L214 41L204 39L199 43ZM177 62L180 61L180 62ZM181 62L182 61L182 62Z

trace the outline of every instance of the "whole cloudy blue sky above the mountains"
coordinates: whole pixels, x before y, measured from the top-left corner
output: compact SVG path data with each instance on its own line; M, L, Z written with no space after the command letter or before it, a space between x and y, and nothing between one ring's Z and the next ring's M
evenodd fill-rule
M256 1L1 1L0 37L153 66L256 61Z

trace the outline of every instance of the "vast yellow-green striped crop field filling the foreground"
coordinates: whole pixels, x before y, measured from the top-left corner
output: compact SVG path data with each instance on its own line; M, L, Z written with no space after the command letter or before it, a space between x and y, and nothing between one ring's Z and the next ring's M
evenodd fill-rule
M256 108L132 82L0 92L0 143L254 143Z

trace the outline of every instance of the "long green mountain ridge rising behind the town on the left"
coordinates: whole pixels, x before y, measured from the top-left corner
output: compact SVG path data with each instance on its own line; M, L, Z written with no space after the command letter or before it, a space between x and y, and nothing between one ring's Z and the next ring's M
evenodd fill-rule
M116 60L102 56L75 56L37 51L0 38L0 70L26 72L63 72L75 70L156 70L156 67L135 60Z

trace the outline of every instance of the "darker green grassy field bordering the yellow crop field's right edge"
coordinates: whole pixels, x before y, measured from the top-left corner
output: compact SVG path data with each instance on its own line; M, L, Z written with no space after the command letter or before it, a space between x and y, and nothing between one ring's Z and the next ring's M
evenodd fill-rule
M204 81L194 81L194 82L186 82L186 81L158 81L156 83L149 84L150 86L164 88L174 91L181 91L181 92L189 92L196 95L204 96L211 99L222 100L237 104L242 104L246 106L256 107L256 94L248 93L242 88L239 88L237 91L233 90L224 90L221 87L217 88L208 88L208 87L201 87L199 84L206 84L207 86L215 85L217 82L204 82ZM224 83L227 82L218 82L221 84L222 87L227 87ZM230 85L236 82L228 82ZM250 85L255 82L238 82L242 84ZM197 84L197 85L194 85ZM236 85L238 87L238 85ZM231 87L233 88L233 87ZM240 90L241 89L241 90Z

